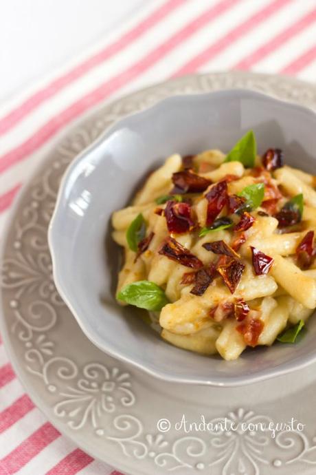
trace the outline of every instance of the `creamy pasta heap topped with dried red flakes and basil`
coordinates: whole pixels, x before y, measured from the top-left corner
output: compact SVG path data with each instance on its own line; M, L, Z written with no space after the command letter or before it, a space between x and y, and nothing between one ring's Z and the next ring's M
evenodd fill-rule
M228 154L174 154L113 213L124 248L117 302L154 312L161 337L226 360L294 343L316 308L316 178L257 154L253 131Z

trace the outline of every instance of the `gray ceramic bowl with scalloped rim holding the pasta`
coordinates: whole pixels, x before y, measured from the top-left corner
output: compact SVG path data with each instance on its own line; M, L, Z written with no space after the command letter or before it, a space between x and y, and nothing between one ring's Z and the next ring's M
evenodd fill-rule
M315 173L316 114L238 89L174 96L126 117L67 169L49 227L54 278L84 333L104 352L162 379L216 386L266 379L316 360L313 317L300 344L247 350L227 362L167 344L137 309L115 303L120 249L111 241L111 213L166 156L228 151L249 129L259 152L280 147L289 165Z

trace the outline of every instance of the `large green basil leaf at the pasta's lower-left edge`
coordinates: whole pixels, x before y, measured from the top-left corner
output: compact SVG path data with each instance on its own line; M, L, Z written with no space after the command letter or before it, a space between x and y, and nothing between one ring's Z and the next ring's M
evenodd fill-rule
M117 294L117 299L126 302L126 304L155 312L159 312L161 308L168 304L163 289L149 280L139 280L124 286Z

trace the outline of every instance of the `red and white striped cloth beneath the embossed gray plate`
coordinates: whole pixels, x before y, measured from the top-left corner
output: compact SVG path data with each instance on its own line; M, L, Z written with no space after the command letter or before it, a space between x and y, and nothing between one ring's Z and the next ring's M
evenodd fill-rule
M0 112L0 229L59 131L104 100L193 72L244 69L316 81L316 0L155 0ZM120 475L34 407L0 344L0 475Z

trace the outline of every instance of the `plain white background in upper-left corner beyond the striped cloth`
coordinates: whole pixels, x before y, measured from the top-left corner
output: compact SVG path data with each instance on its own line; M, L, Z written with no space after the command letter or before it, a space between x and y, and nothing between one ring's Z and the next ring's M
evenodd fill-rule
M0 102L155 0L0 0Z

